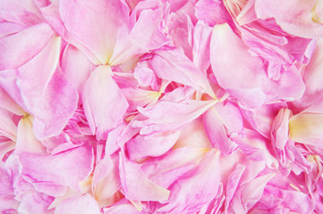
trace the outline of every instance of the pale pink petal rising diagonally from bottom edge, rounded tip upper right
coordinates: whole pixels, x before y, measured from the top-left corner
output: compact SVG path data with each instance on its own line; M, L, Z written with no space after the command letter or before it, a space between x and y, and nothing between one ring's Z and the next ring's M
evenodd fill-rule
M166 213L195 213L216 195L220 182L220 152L209 151L190 176L177 180L172 185L166 206L158 211Z

